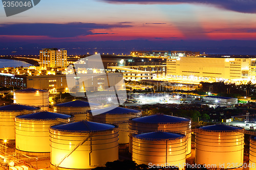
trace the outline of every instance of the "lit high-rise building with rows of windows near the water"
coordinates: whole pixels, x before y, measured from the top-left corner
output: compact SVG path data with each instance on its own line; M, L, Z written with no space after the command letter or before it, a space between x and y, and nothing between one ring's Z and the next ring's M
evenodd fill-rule
M67 67L67 50L44 48L40 50L41 67Z

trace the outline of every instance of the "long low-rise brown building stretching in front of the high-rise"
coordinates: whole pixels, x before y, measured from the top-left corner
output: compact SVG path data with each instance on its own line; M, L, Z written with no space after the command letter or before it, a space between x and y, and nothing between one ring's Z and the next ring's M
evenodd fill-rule
M111 72L106 75L81 74L78 79L68 80L72 87L80 88L81 91L102 91L109 86L114 86L123 79L122 74ZM94 77L93 77L94 76ZM77 80L86 80L83 85L77 84ZM66 75L14 75L0 73L0 84L5 87L19 87L22 89L36 88L50 91L69 92Z

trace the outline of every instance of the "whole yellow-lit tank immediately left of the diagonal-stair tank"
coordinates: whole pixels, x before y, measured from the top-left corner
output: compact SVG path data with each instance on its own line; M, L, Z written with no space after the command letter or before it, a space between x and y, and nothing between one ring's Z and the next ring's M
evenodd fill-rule
M67 114L38 112L15 117L15 147L28 155L50 154L49 128L62 122L72 122Z

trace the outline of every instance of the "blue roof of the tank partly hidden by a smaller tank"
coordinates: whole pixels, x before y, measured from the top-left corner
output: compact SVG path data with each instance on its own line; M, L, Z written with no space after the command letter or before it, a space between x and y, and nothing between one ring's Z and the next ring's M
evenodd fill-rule
M138 117L132 119L134 122L158 124L158 123L179 123L188 122L190 119L183 117L170 116L165 114L155 114L150 116Z

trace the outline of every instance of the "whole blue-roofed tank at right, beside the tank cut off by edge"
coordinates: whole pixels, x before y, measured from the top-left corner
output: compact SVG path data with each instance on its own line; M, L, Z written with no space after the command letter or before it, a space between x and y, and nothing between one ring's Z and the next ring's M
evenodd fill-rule
M217 168L238 168L244 160L244 129L210 125L196 130L195 162Z

